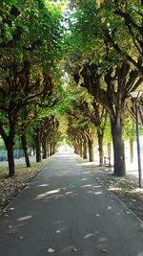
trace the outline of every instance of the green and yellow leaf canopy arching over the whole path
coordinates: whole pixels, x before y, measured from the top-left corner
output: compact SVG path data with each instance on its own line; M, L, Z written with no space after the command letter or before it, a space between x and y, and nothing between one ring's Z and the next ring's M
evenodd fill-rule
M131 69L142 68L141 1L68 3L69 10L65 9L67 1L62 0L0 3L0 125L7 135L11 117L18 135L24 131L32 135L34 128L51 116L61 120L63 132L67 128L63 120L68 115L74 128L83 128L91 122L89 113L92 115L92 99L96 96L100 104L107 106L108 101L113 110L118 108L117 92L126 90L115 78L121 61L131 61ZM107 93L105 81L109 70L112 93ZM78 86L73 80L75 74L79 76ZM130 75L124 84L129 84ZM92 96L81 88L86 82ZM126 92L133 86L130 84ZM98 95L95 88L100 90ZM128 128L126 136L133 136L134 131L132 134ZM105 132L110 141L109 121Z

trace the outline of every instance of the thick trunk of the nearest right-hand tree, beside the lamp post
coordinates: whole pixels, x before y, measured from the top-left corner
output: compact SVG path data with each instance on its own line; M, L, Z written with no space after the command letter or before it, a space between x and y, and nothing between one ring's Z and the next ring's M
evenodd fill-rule
M125 167L125 151L124 151L124 138L123 138L123 117L120 114L115 122L111 120L112 125L112 142L113 142L113 162L114 169L113 175L124 176L126 175Z

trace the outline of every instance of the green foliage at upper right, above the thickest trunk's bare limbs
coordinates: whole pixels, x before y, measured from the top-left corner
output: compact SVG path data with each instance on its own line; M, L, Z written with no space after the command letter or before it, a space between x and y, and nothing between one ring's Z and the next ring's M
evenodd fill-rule
M72 1L73 2L73 1ZM133 1L76 1L70 16L70 52L90 58L101 70L128 59L142 72L142 4ZM78 56L78 57L77 57ZM76 58L77 57L77 58ZM78 62L78 60L77 60Z

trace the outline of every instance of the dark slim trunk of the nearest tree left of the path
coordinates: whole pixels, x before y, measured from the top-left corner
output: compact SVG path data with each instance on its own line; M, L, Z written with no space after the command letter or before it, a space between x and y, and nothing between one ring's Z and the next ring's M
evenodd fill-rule
M14 164L14 155L13 155L13 139L8 139L6 143L6 148L8 151L8 161L9 161L9 176L12 177L15 175L15 164Z

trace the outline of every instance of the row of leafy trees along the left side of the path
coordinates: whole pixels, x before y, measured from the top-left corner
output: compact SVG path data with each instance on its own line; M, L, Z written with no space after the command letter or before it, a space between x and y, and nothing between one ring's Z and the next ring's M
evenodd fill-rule
M0 8L0 134L8 151L10 176L13 176L15 134L22 139L30 166L26 133L31 130L35 134L39 151L39 137L43 136L41 140L45 144L43 132L48 129L46 121L42 120L41 124L41 119L47 118L48 108L58 101L52 80L61 55L62 9L52 1L42 0L2 1Z

